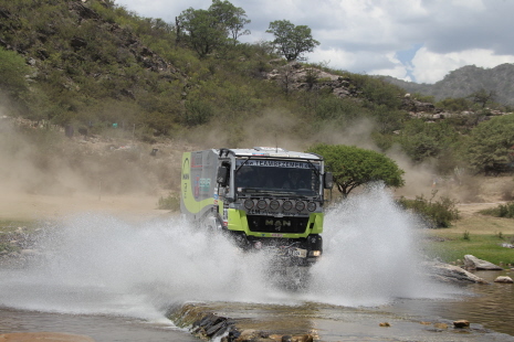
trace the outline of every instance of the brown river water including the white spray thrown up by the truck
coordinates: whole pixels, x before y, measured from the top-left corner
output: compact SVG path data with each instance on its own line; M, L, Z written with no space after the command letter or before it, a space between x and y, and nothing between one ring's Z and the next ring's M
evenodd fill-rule
M310 287L291 292L270 281L269 256L241 254L178 217L134 224L84 213L41 223L41 255L0 270L0 333L195 341L165 312L197 302L264 330L313 330L322 341L514 341L504 323L514 321L512 285L431 282L418 268L421 234L387 191L354 196L327 213L324 257ZM482 335L475 325L478 333L464 336L420 324L458 319L503 334ZM378 328L382 321L391 327Z

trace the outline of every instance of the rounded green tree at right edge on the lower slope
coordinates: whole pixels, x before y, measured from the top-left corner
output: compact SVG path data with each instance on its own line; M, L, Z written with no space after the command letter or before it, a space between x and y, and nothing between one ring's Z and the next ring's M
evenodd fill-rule
M475 171L487 172L514 162L514 115L483 121L470 133L466 160Z

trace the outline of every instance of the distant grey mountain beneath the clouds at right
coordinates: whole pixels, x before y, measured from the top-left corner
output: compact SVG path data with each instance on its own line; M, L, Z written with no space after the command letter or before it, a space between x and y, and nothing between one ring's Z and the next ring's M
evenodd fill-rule
M476 90L485 89L496 93L496 103L514 105L514 64L511 63L501 64L493 68L466 65L450 72L443 79L434 84L417 84L390 76L381 78L403 88L407 93L431 95L437 100L448 97L466 97Z

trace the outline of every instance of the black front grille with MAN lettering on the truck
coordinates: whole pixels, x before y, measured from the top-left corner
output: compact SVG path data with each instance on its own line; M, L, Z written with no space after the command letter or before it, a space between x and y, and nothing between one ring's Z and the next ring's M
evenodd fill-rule
M272 217L258 215L248 215L246 217L250 231L262 233L304 233L308 223L308 217Z

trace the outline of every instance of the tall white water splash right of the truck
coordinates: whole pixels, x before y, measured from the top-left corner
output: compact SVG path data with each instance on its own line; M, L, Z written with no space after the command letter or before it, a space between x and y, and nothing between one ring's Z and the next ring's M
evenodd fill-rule
M395 298L436 296L418 272L419 222L380 185L327 213L324 256L314 266L313 299L377 306Z

